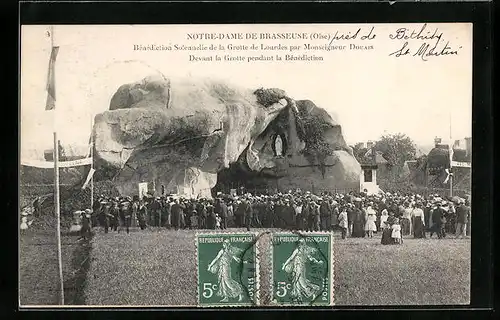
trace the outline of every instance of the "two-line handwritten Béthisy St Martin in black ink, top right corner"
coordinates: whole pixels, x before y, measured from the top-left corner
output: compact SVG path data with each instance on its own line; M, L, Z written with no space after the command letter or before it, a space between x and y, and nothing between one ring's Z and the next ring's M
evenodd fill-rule
M391 33L389 38L391 40L407 40L400 49L389 54L389 56L396 58L412 56L428 61L430 57L458 55L459 50L462 49L462 46L452 47L450 41L444 39L444 34L439 31L439 28L435 28L433 31L427 30L427 24L424 24L418 31L399 28L395 33ZM418 40L424 40L424 42ZM413 43L416 44L412 45ZM415 48L417 49L415 50Z

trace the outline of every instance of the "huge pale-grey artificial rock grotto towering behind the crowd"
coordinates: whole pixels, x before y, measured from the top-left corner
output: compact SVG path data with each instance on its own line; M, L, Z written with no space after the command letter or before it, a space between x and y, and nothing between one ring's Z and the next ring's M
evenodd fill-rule
M303 152L308 142L296 119L303 115L322 119L332 153L321 170ZM122 85L94 123L96 178L112 179L124 195L149 182L157 193L209 196L217 174L238 161L251 172L267 171L273 185L276 179L302 188L308 180L325 188L359 184L359 164L340 124L311 101L294 101L279 89L148 77ZM282 157L274 148L277 135L286 140Z

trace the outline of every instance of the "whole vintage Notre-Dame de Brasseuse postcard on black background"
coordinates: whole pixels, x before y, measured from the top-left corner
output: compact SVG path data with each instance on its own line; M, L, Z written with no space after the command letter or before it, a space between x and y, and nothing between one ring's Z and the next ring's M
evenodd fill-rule
M20 306L469 304L473 40L21 26Z

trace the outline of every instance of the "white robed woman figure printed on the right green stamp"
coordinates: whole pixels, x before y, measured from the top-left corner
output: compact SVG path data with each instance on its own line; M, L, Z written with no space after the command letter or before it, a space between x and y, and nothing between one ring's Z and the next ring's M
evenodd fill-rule
M283 263L282 270L292 276L290 295L298 301L302 301L303 297L314 300L321 290L319 285L312 283L306 277L306 263L308 260L317 264L323 263L323 261L313 257L316 251L315 248L306 245L304 239L300 239L297 248Z

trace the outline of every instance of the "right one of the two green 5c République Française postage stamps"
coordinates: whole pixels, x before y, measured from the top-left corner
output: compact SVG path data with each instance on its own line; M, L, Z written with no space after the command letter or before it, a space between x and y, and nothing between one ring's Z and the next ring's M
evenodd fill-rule
M272 235L273 305L333 305L332 241L328 232Z

